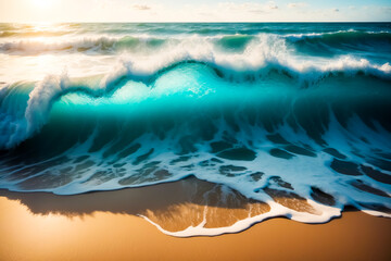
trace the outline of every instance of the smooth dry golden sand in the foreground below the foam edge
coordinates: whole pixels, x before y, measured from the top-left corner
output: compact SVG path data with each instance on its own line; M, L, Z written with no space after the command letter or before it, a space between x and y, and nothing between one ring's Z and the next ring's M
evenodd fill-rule
M11 213L10 213L11 212ZM390 260L391 220L343 212L325 224L270 219L237 234L167 236L142 217L110 212L33 214L0 197L0 260Z

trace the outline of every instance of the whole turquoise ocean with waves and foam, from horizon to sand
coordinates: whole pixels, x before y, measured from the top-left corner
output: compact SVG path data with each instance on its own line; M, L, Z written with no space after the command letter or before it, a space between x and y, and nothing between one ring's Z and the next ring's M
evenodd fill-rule
M0 188L195 176L270 206L179 236L390 217L390 23L0 24Z

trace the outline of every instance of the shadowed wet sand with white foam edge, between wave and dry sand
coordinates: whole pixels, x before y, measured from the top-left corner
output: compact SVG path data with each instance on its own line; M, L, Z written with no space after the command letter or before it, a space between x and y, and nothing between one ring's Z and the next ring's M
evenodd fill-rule
M66 196L0 189L0 197L20 200L34 214L68 217L87 216L99 211L129 214L143 217L162 233L174 237L235 234L275 217L321 224L341 214L339 208L318 204L294 192L268 189L267 194L273 200L260 201L223 184L194 176L153 186Z

